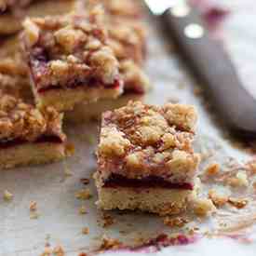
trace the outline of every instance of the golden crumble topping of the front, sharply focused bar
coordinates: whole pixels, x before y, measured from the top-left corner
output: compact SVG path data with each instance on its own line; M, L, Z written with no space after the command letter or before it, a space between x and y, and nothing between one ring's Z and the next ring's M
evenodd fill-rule
M98 148L99 171L137 179L163 176L191 182L199 163L194 154L195 109L180 104L163 107L128 102L103 115Z

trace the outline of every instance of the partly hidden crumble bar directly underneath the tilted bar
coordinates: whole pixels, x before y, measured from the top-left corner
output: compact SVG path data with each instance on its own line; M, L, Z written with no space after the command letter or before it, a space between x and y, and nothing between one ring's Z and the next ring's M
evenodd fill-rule
M122 95L116 99L76 104L74 110L65 113L65 119L72 123L99 120L103 112L123 107L128 101L143 101L150 89L150 82L141 67L134 61L121 61L120 74L124 80Z

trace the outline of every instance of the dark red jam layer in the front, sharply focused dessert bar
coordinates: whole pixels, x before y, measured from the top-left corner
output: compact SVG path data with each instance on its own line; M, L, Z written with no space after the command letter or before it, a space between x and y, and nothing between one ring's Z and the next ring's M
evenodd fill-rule
M161 177L149 176L142 179L128 179L119 174L112 174L108 180L104 182L105 188L130 187L130 188L166 188L166 189L182 189L193 190L193 183L172 183Z

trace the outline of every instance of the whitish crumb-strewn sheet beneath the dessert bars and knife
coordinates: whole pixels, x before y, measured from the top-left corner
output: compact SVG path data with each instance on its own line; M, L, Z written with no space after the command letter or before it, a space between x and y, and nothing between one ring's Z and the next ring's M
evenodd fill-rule
M250 90L254 90L256 81L256 3L253 0L218 1L231 8L232 14L224 23L225 47L232 53L234 61ZM236 161L246 161L250 156L235 147L223 136L214 119L206 110L202 99L195 96L195 82L185 72L177 53L161 34L157 25L149 19L149 60L147 73L154 84L147 102L163 104L170 100L194 104L199 112L196 149L208 152L218 149L214 157L225 162L229 156ZM238 106L237 106L238 107ZM94 183L88 187L93 197L87 201L77 200L75 193L84 188L80 181L91 178L96 168L94 150L99 132L96 123L79 126L65 126L70 141L74 142L75 155L64 162L44 167L19 168L1 172L0 191L10 191L14 195L11 202L0 198L0 255L40 255L46 243L52 248L57 245L65 250L65 255L78 255L97 248L101 236L118 237L127 243L133 243L138 237L152 237L164 231L169 232L160 218L141 213L112 213L115 223L108 228L102 227L102 212L95 206L97 198ZM214 158L213 157L213 158ZM213 161L213 158L210 161ZM206 165L206 163L204 163ZM66 172L72 176L67 177ZM30 219L30 202L36 201L39 218ZM85 205L88 214L80 215L79 209ZM82 229L89 228L89 234L83 235ZM228 238L201 239L187 247L172 247L158 252L159 255L255 255L256 245L244 245ZM109 255L112 255L110 253Z

